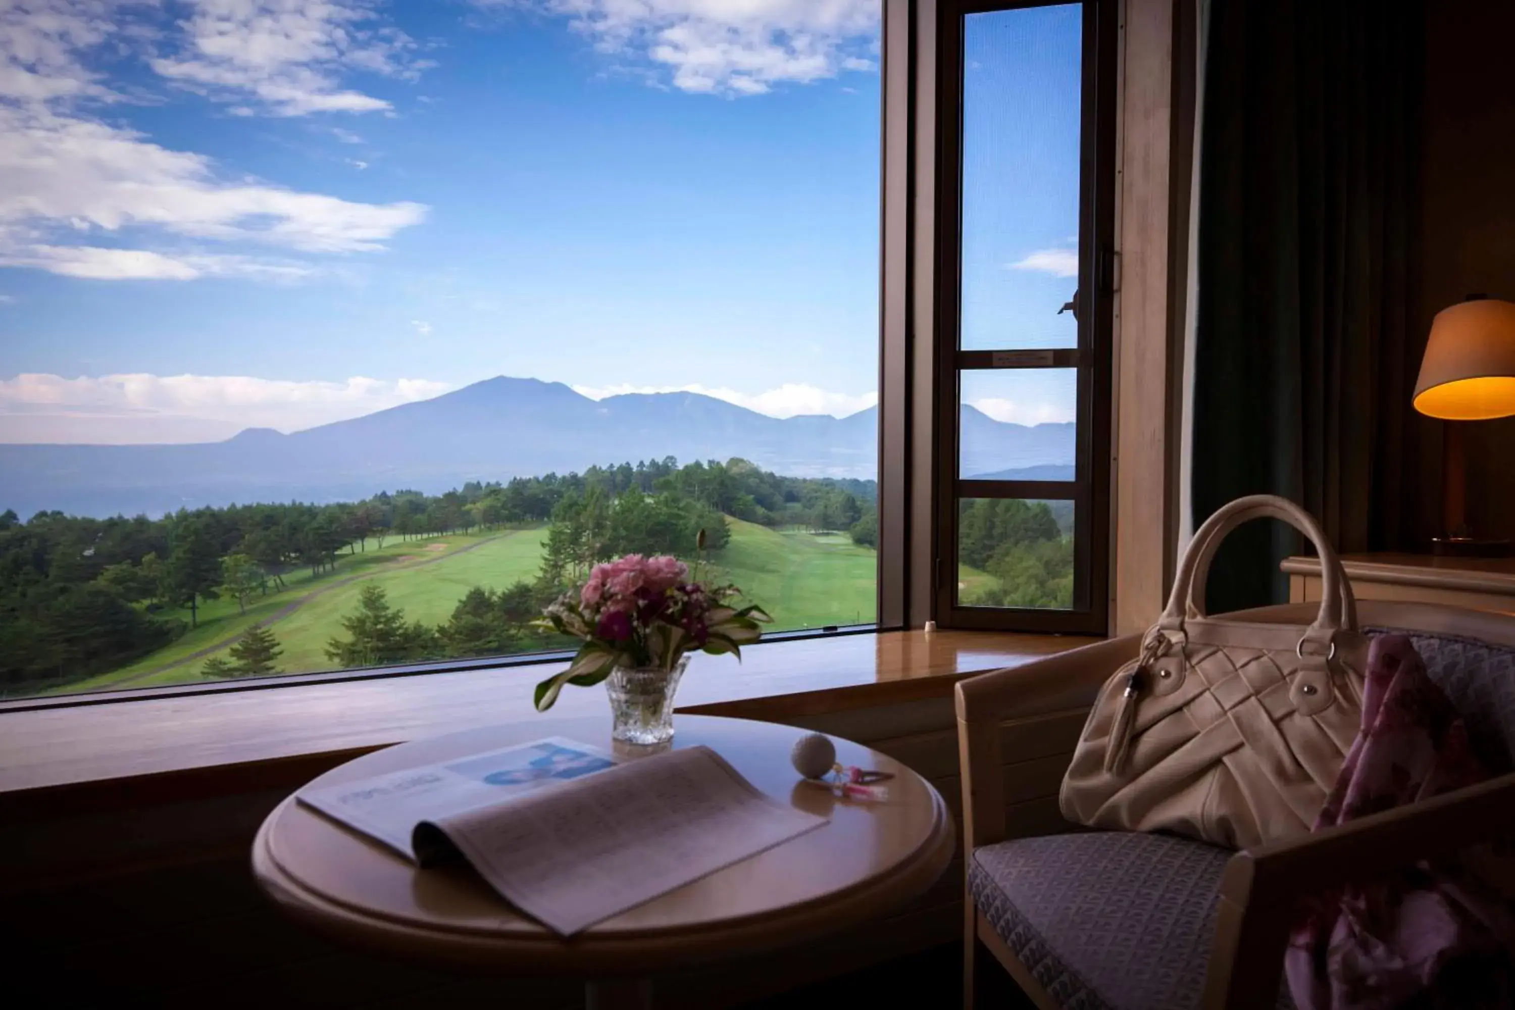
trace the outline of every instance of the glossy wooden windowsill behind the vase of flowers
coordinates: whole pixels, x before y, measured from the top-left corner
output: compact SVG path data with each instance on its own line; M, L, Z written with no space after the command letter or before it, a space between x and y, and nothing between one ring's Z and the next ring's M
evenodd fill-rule
M785 719L945 698L967 675L1017 666L1095 639L995 631L882 631L761 644L744 662L697 656L680 712ZM309 777L350 756L436 733L539 718L536 681L551 665L501 666L0 713L0 810L41 815L59 793L120 806L171 783L203 792ZM568 687L553 713L604 706ZM206 780L217 775L215 783ZM168 787L170 798L180 792ZM114 800L111 800L114 796Z

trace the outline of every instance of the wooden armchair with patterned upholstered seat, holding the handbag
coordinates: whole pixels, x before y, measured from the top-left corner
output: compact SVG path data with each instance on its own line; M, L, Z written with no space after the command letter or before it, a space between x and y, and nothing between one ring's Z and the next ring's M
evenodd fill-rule
M1247 618L1307 624L1317 606ZM1044 1010L1292 1007L1282 971L1300 896L1515 834L1515 615L1362 601L1359 616L1370 634L1412 637L1497 777L1241 853L1053 813L1057 769L1139 636L959 683L965 1005L998 962Z

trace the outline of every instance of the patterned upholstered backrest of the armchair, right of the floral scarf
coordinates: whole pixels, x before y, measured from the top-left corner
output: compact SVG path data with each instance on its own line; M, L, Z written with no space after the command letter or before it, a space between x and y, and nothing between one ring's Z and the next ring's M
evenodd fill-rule
M1426 672L1468 724L1468 740L1491 774L1515 769L1515 650L1451 634L1364 628L1368 636L1407 634Z

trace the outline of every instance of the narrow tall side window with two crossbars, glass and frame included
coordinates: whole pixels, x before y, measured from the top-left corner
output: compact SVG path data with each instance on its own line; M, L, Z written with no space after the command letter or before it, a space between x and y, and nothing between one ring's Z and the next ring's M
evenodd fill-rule
M1114 8L941 8L944 625L1106 627Z

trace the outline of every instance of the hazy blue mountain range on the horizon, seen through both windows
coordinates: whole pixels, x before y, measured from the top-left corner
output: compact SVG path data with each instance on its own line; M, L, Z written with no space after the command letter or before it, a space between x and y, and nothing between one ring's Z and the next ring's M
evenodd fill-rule
M748 459L795 477L877 471L877 409L771 418L692 392L591 400L504 376L283 435L247 429L188 445L0 445L0 510L161 515L248 501L344 501L674 456ZM1074 426L1021 426L962 407L962 472L1070 468ZM1036 477L1030 477L1036 479Z

